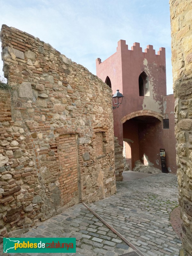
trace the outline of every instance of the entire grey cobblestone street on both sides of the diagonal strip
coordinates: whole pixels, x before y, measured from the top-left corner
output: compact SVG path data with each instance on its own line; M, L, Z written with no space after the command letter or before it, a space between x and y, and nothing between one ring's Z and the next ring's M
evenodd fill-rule
M131 173L125 172L124 181L117 182L116 195L88 205L96 216L86 205L74 205L22 237L76 237L76 253L51 253L51 256L142 256L142 253L178 256L181 242L169 220L170 212L178 206L176 175L140 173L137 179L132 175L134 180L131 180L128 178ZM3 243L0 250L2 247Z

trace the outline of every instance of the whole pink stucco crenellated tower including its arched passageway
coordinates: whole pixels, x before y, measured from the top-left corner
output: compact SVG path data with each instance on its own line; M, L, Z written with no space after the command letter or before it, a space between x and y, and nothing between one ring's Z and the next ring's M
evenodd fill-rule
M118 143L127 148L130 166L133 168L135 161L140 160L161 169L159 150L165 148L168 170L176 172L174 97L164 97L165 48L156 54L153 46L148 45L142 52L140 44L134 43L128 50L125 40L120 40L113 55L103 62L96 60L96 71L113 93L119 89L124 95L122 105L113 110L114 133ZM122 170L118 170L117 178L121 175Z

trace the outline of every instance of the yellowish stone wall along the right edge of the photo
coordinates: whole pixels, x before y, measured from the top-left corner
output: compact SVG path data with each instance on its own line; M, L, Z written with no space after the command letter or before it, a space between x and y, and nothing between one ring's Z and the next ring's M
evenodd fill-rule
M182 246L192 255L192 1L170 0Z

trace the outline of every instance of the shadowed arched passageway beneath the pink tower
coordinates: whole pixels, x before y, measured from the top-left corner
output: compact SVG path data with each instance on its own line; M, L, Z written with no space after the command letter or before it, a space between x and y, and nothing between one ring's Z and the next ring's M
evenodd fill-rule
M135 161L140 160L145 165L161 169L161 163L159 163L159 149L162 146L161 120L161 114L149 112L130 113L124 118L124 141L132 141L129 144L130 149L125 145L125 150L126 148L127 151L131 150L131 154L128 153L129 156L131 155L131 160L127 159L127 162L131 161L132 168L135 166Z

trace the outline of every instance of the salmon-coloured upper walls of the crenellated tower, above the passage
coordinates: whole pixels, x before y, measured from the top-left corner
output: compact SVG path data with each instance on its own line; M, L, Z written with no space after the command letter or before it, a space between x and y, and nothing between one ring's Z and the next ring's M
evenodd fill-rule
M162 96L166 95L165 48L155 54L152 45L145 52L139 43L134 43L131 50L125 40L118 42L116 53L101 62L96 60L97 76L104 82L108 76L113 93L117 89L123 93L123 103L114 109L114 133L123 145L123 130L120 119L137 110L148 109L163 113ZM150 96L139 96L139 76L145 71L150 84Z

